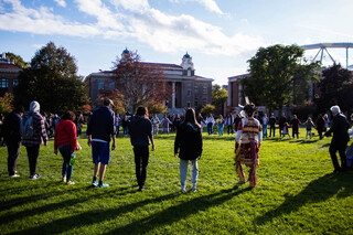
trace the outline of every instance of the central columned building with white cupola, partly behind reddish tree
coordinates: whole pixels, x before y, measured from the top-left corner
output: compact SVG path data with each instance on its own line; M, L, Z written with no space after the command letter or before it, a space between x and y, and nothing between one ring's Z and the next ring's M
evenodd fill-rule
M129 53L129 51L125 50L121 57L124 57L124 53ZM172 94L168 99L169 102L165 103L169 113L183 113L186 107L197 108L211 104L213 79L195 75L192 57L188 53L182 57L181 65L142 63L162 70L165 81L171 85ZM95 100L99 97L100 89L106 87L116 88L114 76L114 71L100 71L89 74L85 78L88 87L88 97Z

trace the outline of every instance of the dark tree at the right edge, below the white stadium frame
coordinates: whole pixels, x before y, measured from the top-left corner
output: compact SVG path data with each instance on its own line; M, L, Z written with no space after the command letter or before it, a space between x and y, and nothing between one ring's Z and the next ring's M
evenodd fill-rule
M353 110L353 73L342 68L340 64L322 71L319 83L320 94L315 102L320 113L325 113L333 105L343 111Z

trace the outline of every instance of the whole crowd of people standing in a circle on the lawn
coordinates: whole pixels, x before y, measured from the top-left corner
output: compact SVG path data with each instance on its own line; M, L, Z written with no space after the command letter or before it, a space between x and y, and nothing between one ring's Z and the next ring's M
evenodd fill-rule
M300 126L306 127L306 139L312 139L312 129L318 130L319 138L333 135L330 145L330 156L334 167L334 172L345 171L346 145L349 135L349 120L341 114L340 107L331 107L332 120L329 127L328 115L319 115L315 122L311 117L301 122L296 115L291 119L281 115L278 120L274 114L258 116L255 105L248 104L237 116L222 115L214 118L212 114L203 118L201 114L195 115L194 109L189 108L184 116L173 115L160 119L157 115L149 115L146 107L139 107L135 115L116 115L113 111L114 103L105 99L101 107L96 108L87 118L87 145L92 148L92 158L94 163L92 186L107 188L104 183L106 168L110 160L110 150L116 149L116 136L119 135L119 127L122 127L124 136L129 136L133 147L136 179L139 191L145 190L147 179L147 167L149 162L149 146L154 151L153 136L161 133L169 135L170 131L176 131L174 140L174 157L180 158L180 182L181 192L186 192L186 173L189 162L191 164L192 192L196 191L199 177L197 160L201 159L203 140L203 125L207 127L207 133L214 135L214 126L222 137L224 127L227 135L235 135L235 171L239 178L239 184L246 182L243 164L249 167L247 181L249 186L257 185L256 169L259 165L259 148L264 138L275 137L276 124L278 124L279 137L299 138ZM54 153L58 152L63 157L62 181L67 185L73 185L72 181L75 151L82 147L77 139L82 132L82 126L85 119L82 114L75 115L66 111L58 118L57 115L42 115L40 104L32 102L29 111L23 107L17 107L8 115L2 122L2 132L4 133L6 146L8 147L8 173L11 178L20 177L17 173L17 161L20 154L21 145L25 147L30 179L36 180L41 174L36 173L38 157L41 145L46 146L49 138L54 137ZM270 128L268 136L268 126ZM289 128L292 128L290 135ZM111 145L110 145L111 143ZM338 161L336 151L340 153L341 164ZM353 150L352 150L353 151Z

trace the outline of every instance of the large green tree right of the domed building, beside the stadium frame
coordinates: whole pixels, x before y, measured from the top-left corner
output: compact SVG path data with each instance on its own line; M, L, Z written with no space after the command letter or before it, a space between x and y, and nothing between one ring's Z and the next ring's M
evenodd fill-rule
M242 82L245 95L253 103L266 105L269 109L281 110L291 104L295 75L300 72L304 83L312 78L308 65L300 64L302 56L303 49L297 45L260 47L248 61L250 76Z

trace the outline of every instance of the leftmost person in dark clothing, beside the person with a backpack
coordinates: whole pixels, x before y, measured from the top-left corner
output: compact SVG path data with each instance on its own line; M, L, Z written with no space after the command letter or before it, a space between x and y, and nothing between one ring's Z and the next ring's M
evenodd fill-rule
M11 178L20 177L15 173L15 168L21 149L21 119L23 113L23 107L15 108L4 118L2 125L4 142L8 147L8 172Z

